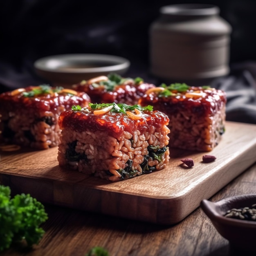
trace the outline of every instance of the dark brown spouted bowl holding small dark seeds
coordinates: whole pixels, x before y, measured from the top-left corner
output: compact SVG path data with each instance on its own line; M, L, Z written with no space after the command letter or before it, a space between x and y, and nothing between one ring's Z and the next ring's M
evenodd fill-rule
M232 250L255 252L256 255L256 221L224 216L228 210L251 207L252 204L256 204L256 194L236 195L218 202L202 200L201 207L220 235L229 240Z

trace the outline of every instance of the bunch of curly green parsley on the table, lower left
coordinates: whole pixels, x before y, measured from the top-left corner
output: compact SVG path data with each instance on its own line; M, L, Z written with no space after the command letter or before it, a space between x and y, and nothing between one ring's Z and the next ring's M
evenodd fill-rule
M37 244L45 231L39 226L48 218L43 204L29 194L15 195L11 189L0 185L0 252L13 241L26 240L30 247Z

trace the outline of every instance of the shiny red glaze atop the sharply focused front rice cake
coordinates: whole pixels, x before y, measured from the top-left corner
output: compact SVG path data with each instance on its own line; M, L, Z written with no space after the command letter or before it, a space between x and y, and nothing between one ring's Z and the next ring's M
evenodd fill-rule
M160 111L144 111L142 118L139 120L116 112L94 115L93 112L65 111L61 113L58 120L62 130L65 128L71 128L77 132L85 130L97 132L102 130L115 138L119 138L124 131L132 132L139 130L140 132L145 132L150 130L150 126L161 127L168 125L168 123L168 116Z

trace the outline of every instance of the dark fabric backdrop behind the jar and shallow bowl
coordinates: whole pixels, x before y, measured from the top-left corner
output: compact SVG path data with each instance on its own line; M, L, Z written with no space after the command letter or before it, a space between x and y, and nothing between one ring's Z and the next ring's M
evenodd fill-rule
M127 76L149 74L150 24L159 8L194 1L2 0L0 3L0 92L42 79L34 71L38 58L69 53L112 54L131 62ZM213 85L228 95L227 119L256 124L256 2L214 0L231 27L228 76ZM180 81L182 82L182 81Z

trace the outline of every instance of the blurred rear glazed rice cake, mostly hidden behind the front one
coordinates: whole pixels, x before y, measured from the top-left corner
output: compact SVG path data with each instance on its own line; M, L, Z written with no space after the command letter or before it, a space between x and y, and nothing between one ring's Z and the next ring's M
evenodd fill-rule
M77 91L86 92L92 103L126 103L136 105L146 90L155 88L152 83L145 83L143 79L123 78L118 74L97 76L90 80L83 80L73 85Z

